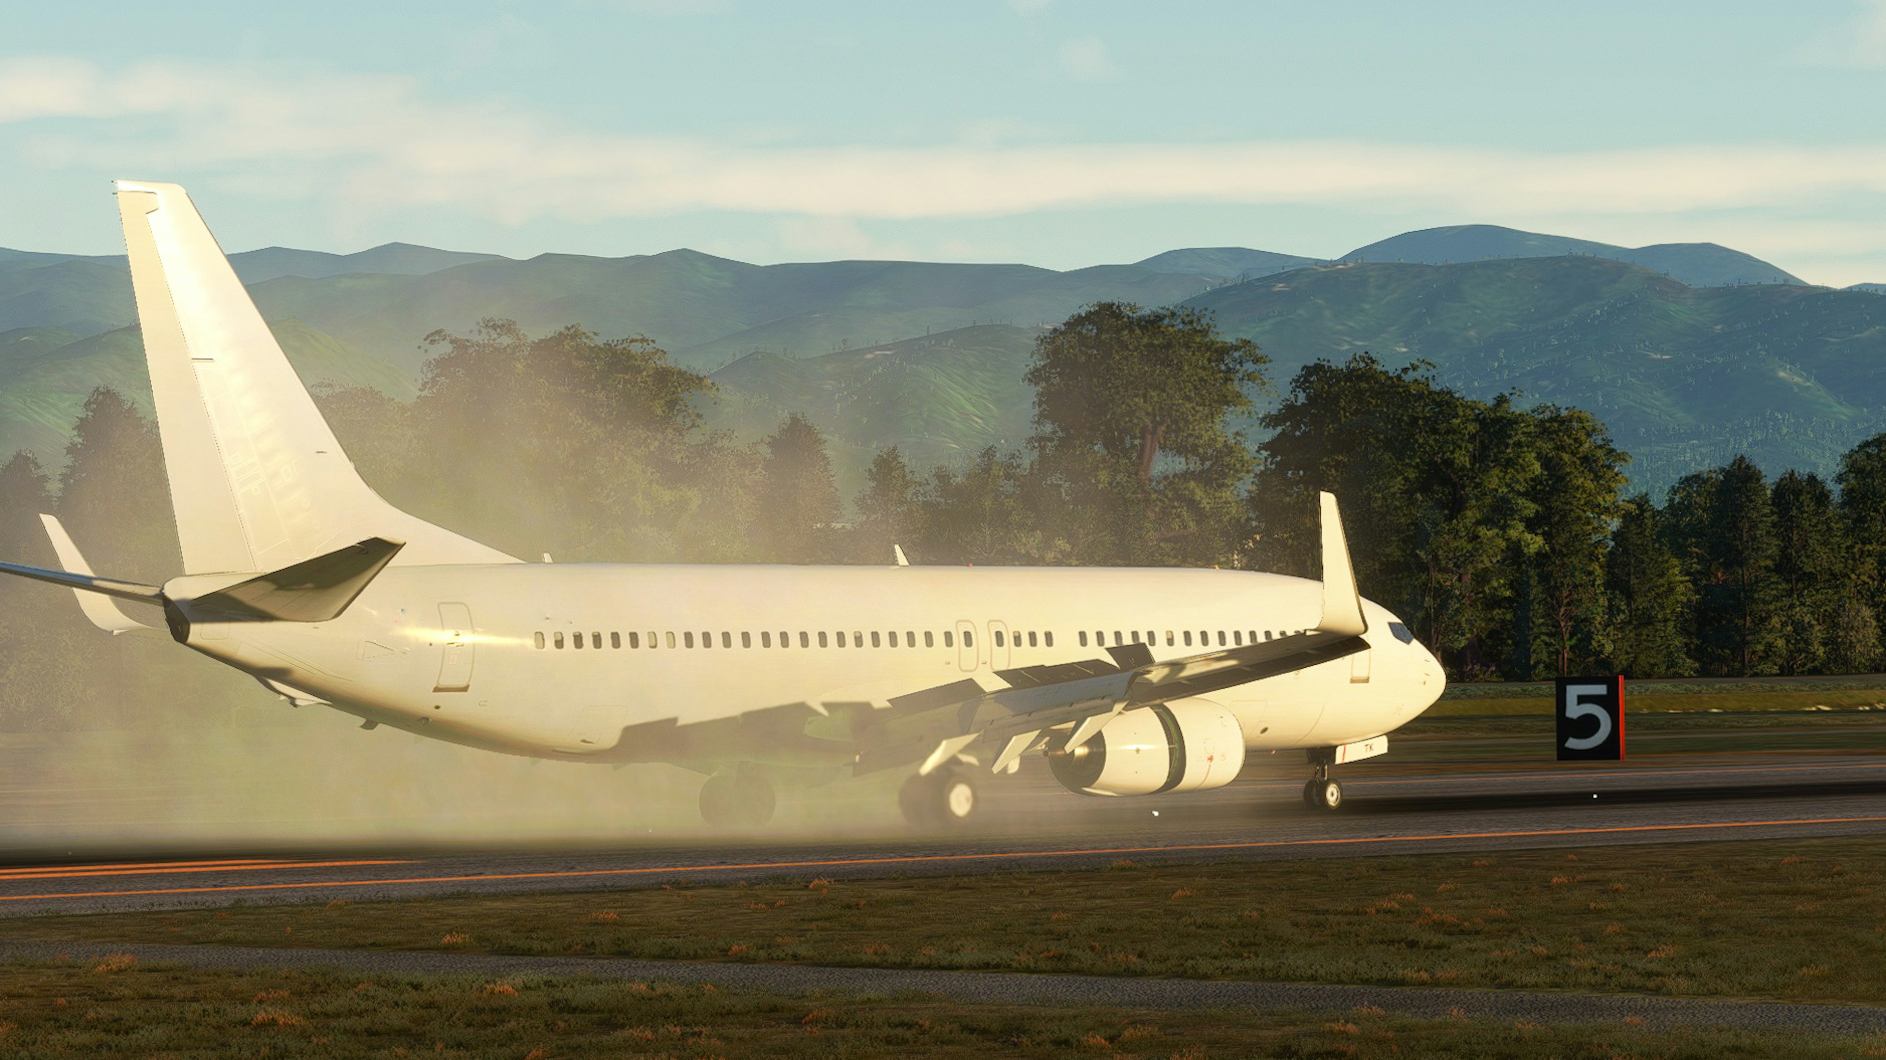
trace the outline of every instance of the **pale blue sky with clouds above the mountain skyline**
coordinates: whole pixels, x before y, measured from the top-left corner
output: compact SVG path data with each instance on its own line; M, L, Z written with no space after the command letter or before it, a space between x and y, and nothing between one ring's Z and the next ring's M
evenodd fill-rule
M1337 257L1437 224L1886 283L1886 0L0 2L0 247Z

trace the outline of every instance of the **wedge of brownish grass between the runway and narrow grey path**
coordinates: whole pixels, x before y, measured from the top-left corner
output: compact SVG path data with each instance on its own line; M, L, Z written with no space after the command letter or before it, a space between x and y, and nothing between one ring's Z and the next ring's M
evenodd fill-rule
M0 920L0 937L1886 1003L1886 847L1801 839Z

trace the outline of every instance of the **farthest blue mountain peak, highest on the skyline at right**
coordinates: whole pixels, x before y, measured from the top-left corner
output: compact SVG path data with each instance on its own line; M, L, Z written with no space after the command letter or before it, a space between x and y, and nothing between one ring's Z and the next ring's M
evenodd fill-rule
M1497 224L1452 224L1390 236L1343 255L1345 262L1456 264L1492 258L1547 258L1584 255L1611 258L1662 272L1690 287L1735 287L1743 283L1803 283L1762 258L1718 247L1716 243L1658 243L1652 247L1614 247L1567 236L1520 232Z

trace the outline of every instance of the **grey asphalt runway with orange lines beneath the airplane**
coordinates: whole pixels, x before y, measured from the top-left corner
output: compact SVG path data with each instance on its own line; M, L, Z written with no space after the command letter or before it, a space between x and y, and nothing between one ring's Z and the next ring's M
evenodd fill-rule
M1367 766L1367 764L1364 764ZM0 917L604 890L775 877L960 875L1115 860L1290 860L1526 847L1886 834L1886 758L1665 754L1637 764L1414 762L1352 768L1347 803L1311 811L1301 768L1215 792L1083 798L1045 773L986 785L986 819L956 834L871 828L719 843L564 843L243 851L0 866Z

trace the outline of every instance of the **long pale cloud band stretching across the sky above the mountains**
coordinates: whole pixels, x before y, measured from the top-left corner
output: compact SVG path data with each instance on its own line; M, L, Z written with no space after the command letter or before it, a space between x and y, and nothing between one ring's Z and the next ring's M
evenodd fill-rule
M445 206L511 224L685 211L951 219L1171 204L1646 217L1850 207L1854 196L1886 196L1886 145L794 147L571 128L498 104L438 102L405 77L181 64L106 72L68 58L0 62L0 136L47 168L145 179L209 174L253 194L326 200L356 215Z

